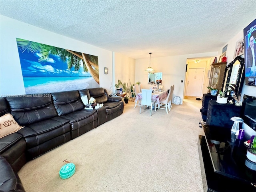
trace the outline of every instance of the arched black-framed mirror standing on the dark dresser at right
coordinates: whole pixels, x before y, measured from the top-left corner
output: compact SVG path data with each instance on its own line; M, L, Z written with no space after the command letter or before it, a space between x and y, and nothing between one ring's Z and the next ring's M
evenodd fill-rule
M221 90L224 91L229 84L233 84L236 94L240 94L242 92L244 76L244 58L238 56L226 66ZM228 95L230 95L230 92L226 93L226 96Z

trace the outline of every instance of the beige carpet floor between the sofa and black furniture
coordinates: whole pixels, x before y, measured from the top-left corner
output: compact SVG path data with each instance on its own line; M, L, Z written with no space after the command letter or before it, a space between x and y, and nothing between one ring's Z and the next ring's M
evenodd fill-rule
M201 104L186 97L150 117L129 101L121 116L24 165L22 184L27 192L203 192ZM62 180L66 159L76 172Z

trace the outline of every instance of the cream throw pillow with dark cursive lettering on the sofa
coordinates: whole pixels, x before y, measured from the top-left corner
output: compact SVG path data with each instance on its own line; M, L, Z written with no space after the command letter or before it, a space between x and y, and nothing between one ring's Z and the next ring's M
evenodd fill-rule
M21 127L13 118L10 113L0 117L0 138L17 132Z

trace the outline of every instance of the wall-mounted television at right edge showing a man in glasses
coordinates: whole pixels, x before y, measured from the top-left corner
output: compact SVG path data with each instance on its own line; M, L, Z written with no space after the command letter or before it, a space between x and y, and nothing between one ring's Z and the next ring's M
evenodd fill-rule
M245 84L256 86L256 19L244 28Z

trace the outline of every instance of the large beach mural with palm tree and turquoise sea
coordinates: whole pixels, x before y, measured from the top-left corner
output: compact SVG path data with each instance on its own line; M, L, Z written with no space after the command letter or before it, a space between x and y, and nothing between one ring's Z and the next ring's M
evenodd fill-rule
M100 87L98 56L16 38L26 94Z

